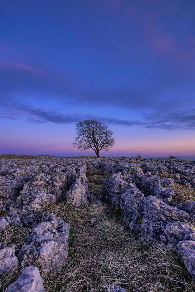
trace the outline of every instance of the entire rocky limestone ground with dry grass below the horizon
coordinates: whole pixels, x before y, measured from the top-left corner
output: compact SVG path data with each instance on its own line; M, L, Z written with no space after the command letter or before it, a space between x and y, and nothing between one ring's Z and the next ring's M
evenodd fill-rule
M0 290L194 291L195 161L0 156Z

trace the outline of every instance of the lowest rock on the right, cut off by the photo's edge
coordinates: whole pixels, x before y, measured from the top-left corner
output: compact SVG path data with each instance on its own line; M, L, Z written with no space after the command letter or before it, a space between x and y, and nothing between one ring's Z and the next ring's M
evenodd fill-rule
M185 267L195 279L195 241L185 240L177 244L177 251L182 256Z

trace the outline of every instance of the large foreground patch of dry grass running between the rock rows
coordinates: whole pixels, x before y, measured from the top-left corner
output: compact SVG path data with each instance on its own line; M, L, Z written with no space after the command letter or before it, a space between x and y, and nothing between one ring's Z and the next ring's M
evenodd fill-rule
M194 291L176 252L129 233L108 206L59 203L49 212L68 222L71 231L67 263L56 277L45 279L46 291L107 291L108 285L127 291Z

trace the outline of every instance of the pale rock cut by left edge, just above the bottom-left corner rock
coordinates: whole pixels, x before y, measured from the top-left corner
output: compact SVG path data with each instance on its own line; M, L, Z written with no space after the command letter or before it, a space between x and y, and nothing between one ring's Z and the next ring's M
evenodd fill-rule
M0 249L0 274L9 275L17 273L18 259L15 256L15 246L1 246Z

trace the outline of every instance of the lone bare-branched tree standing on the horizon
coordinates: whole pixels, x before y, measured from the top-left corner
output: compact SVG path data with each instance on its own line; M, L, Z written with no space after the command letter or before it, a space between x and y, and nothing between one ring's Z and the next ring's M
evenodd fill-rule
M114 145L113 132L108 125L95 120L84 120L76 124L77 136L73 146L81 151L92 148L97 157L100 157L100 150L108 151Z

